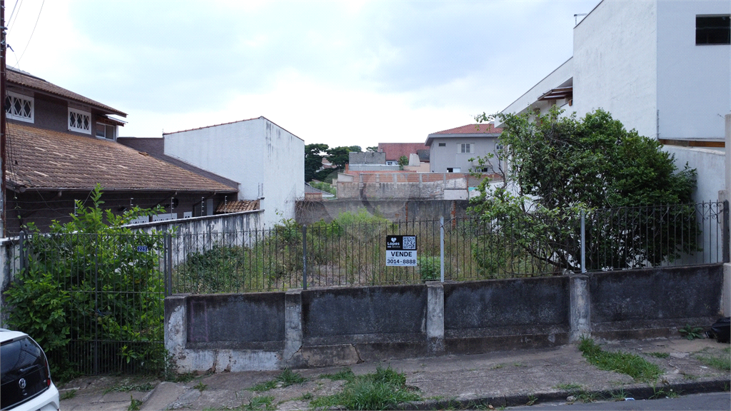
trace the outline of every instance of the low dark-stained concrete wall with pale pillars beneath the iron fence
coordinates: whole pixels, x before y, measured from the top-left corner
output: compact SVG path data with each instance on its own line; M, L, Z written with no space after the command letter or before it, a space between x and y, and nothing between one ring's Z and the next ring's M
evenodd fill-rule
M344 366L552 347L580 336L667 336L721 312L723 265L526 279L173 295L179 372Z

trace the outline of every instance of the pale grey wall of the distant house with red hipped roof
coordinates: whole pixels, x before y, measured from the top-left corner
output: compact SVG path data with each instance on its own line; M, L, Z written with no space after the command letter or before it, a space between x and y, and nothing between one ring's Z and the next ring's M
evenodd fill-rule
M471 168L477 167L477 161L470 162L469 159L494 154L496 140L496 137L434 137L429 150L429 169L432 173L447 173L447 168L460 167L460 173L469 173ZM439 143L446 146L439 147ZM460 153L463 143L473 143L475 153Z

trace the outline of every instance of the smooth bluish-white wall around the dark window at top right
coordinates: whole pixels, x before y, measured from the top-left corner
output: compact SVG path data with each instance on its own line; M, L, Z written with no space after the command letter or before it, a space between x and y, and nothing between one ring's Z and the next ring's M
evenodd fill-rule
M724 137L731 112L731 46L696 45L696 15L731 13L731 1L659 1L659 138Z

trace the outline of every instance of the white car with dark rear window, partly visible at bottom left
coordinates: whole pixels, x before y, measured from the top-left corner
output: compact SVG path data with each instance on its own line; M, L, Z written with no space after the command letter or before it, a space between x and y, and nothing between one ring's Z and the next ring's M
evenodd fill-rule
M28 334L0 328L0 371L2 411L58 411L45 352Z

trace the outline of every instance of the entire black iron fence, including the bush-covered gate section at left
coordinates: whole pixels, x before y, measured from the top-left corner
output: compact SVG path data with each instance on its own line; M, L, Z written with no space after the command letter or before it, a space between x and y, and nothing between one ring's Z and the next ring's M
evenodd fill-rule
M539 227L539 230L536 229ZM387 240L417 238L416 264L387 265ZM728 262L729 206L616 208L551 220L388 222L343 214L268 230L21 235L11 316L49 327L51 363L76 374L164 367L164 296L414 284ZM12 293L18 297L13 300ZM24 298L20 298L23 297ZM23 302L23 306L17 301ZM28 302L30 301L30 302ZM36 334L36 335L34 335Z

